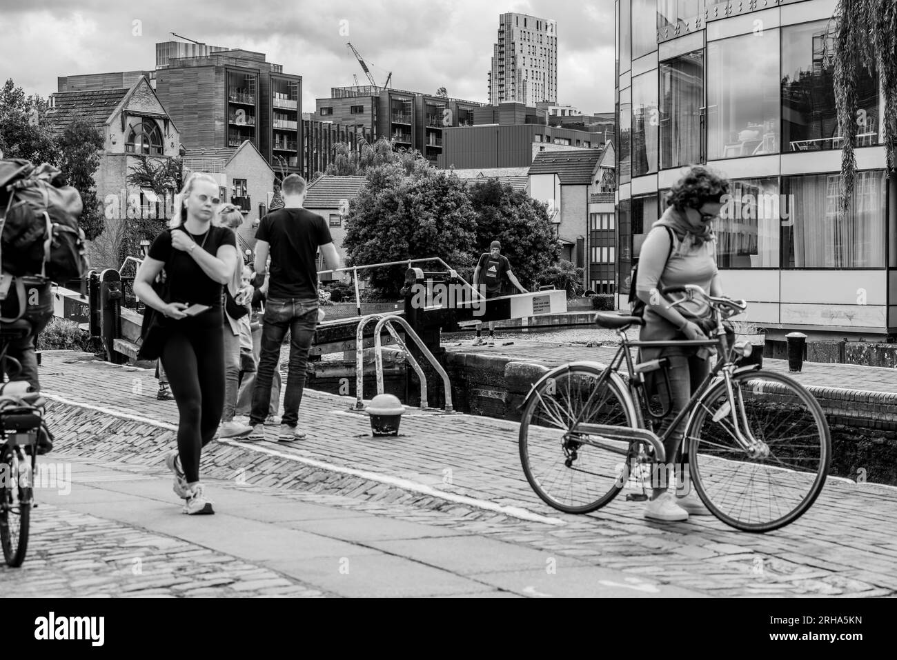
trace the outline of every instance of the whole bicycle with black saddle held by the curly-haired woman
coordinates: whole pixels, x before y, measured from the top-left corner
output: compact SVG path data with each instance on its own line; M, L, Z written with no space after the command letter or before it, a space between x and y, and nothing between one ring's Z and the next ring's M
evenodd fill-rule
M832 440L821 406L788 376L736 364L752 349L730 339L725 322L745 311L744 300L710 296L694 285L662 293L683 294L670 306L688 304L693 316L708 317L710 336L630 341L626 330L643 325L640 317L597 313L597 325L621 337L620 348L608 365L571 362L531 388L521 406L519 435L527 482L544 502L567 513L604 507L631 478L641 481L642 492L627 499L648 499L644 474L666 468L664 442L687 418L682 456L695 491L714 516L745 532L769 532L794 522L823 490L831 462ZM652 374L658 387L664 376L668 402L668 360L636 364L631 350L672 346L714 348L718 360L658 436L669 405L658 409L645 376Z

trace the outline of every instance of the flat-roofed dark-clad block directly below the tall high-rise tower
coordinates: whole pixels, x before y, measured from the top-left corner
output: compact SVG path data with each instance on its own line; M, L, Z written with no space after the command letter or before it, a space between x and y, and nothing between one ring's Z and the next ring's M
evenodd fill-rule
M523 103L507 102L474 110L473 126L443 130L440 169L529 167L542 152L594 149L602 135L548 126L548 114Z

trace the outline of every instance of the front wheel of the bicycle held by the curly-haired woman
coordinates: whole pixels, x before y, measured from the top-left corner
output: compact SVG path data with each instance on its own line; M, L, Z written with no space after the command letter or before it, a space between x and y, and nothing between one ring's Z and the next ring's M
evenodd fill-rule
M825 485L832 440L823 410L796 381L770 371L732 378L736 437L725 381L698 403L686 430L689 473L710 512L745 532L769 532L793 523Z

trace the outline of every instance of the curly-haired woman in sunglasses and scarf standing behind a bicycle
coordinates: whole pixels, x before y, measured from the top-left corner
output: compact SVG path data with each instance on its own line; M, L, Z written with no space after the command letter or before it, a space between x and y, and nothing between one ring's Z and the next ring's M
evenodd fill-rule
M658 295L665 287L697 284L710 295L721 296L722 284L716 263L716 236L711 223L723 206L728 193L728 181L701 166L689 168L666 196L667 208L660 220L651 226L642 244L638 281L635 292L645 302L645 325L642 341L694 340L706 337L695 317L685 317ZM669 412L661 431L665 431L675 416L692 397L692 391L706 378L710 364L706 350L689 347L644 349L641 360L669 360L668 377L672 401L666 401L666 387L658 394ZM688 488L690 475L682 456L682 428L680 422L666 441L667 460L674 461L679 480L676 497L667 490L668 482L652 483L653 494L644 516L655 520L687 520L692 516L708 515L701 499Z

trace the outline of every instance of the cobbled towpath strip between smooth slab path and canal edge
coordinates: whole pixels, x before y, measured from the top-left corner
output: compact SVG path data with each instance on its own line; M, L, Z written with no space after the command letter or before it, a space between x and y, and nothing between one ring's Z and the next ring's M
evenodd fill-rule
M519 356L515 351L523 359ZM48 394L79 403L57 399L53 404L53 419L66 429L60 447L135 465L156 456L154 469L164 474L161 447L170 446L170 430L126 419L138 414L155 424L175 421L174 404L154 399L152 372L73 362L65 353L45 354L44 360L41 378ZM80 405L92 401L115 414ZM308 392L301 420L310 435L300 447L213 443L203 474L360 500L351 506L366 513L424 519L429 527L462 530L707 595L880 596L897 591L893 489L830 479L804 517L762 535L736 532L713 517L650 523L641 517L640 505L623 497L595 514L567 516L542 505L524 480L517 424L416 412L405 416L398 438L374 440L367 418L347 412L349 404L347 397ZM532 581L536 592L551 593L551 586L535 577Z

